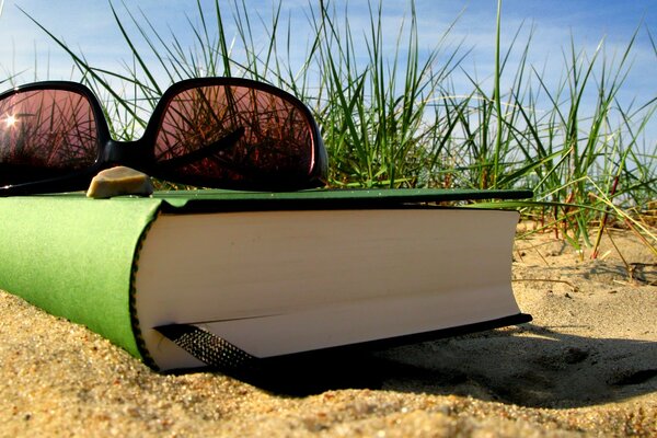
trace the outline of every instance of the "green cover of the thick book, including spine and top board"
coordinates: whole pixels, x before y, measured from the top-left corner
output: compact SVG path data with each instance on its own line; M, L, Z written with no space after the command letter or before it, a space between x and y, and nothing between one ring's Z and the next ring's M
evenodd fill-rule
M0 289L87 325L147 360L134 312L139 250L159 215L405 208L459 199L525 198L527 191L159 192L0 198Z

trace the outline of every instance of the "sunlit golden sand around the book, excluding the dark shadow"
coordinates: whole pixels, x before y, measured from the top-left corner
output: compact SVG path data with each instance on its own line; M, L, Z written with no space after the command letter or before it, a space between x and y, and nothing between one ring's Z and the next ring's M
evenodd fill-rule
M0 436L655 437L657 260L612 235L596 261L517 241L529 324L304 364L312 384L293 370L275 391L153 372L0 291Z

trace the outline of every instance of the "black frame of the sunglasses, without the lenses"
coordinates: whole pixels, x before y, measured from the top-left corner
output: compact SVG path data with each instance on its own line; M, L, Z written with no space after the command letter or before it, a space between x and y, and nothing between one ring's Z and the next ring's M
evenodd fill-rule
M242 191L298 191L306 188L320 187L326 184L327 174L327 154L324 147L320 128L312 116L312 113L303 102L292 94L278 89L274 85L254 81L251 79L232 77L210 77L186 79L172 84L158 101L150 119L146 126L141 138L131 141L120 141L112 138L105 113L96 95L87 85L72 81L43 81L16 87L10 91L0 94L0 101L3 101L16 93L39 91L39 90L61 90L70 91L83 95L89 104L96 123L97 135L97 157L94 163L85 170L72 172L70 175L34 181L30 183L0 186L1 196L30 195L39 193L61 193L87 189L91 178L100 171L115 166L125 165L159 180L169 181L191 186L207 187L207 180L189 176L181 181L180 175L171 178L171 173L166 170L158 169L155 162L155 139L159 132L160 124L163 119L170 102L178 94L197 88L207 87L241 87L256 91L262 91L277 96L297 108L308 120L312 140L311 165L308 175L302 181L298 177L279 181L226 181L216 186L216 188L242 189Z

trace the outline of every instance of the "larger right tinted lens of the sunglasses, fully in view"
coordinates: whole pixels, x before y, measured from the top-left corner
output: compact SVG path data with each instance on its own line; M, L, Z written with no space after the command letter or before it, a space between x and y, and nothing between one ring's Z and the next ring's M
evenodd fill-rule
M241 85L194 88L168 103L155 160L192 184L299 184L314 163L312 129L284 96Z

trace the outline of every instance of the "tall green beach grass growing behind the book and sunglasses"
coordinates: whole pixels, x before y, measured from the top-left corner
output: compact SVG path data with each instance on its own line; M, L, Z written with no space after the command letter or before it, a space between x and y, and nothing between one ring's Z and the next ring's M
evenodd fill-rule
M618 57L607 55L604 42L589 54L572 41L563 48L566 68L554 85L546 83L544 70L528 62L531 28L525 41L527 32L518 28L511 44L502 46L506 30L499 1L493 90L487 90L465 69L468 50L448 48L451 26L431 50L420 50L413 1L393 49L383 28L382 1L370 3L367 27L357 31L347 11L309 2L312 33L302 42L301 64L292 60L292 44L299 42L281 18L280 2L267 18L244 0L233 0L230 8L217 0L211 13L200 1L196 7L195 19L188 19L194 43L185 46L175 34L159 33L139 10L126 7L127 19L122 19L113 5L132 54L122 73L94 67L44 31L70 54L82 80L104 96L117 138L139 135L171 82L249 77L286 89L312 107L328 150L333 187L529 187L534 199L506 206L576 249L590 246L596 255L604 230L622 226L657 254L649 222L657 199L657 152L655 140L646 145L644 136L657 96L638 96L625 106L619 99L639 32L648 34L657 56L649 31L638 26ZM268 42L257 49L255 28L264 28ZM519 62L509 70L512 57ZM457 93L457 74L469 78L469 93ZM510 85L503 89L503 83ZM592 107L585 106L590 95L597 96Z

